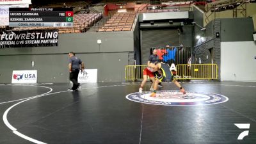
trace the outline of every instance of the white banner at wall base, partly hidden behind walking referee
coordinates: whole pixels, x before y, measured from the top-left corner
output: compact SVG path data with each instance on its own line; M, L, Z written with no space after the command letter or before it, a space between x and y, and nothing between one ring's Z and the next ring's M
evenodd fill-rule
M79 72L78 83L97 83L97 69L85 69Z

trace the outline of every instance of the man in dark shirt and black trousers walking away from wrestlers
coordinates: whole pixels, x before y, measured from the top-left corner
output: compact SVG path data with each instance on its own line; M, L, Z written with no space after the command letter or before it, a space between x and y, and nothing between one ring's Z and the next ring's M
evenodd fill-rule
M80 86L77 82L79 70L84 71L84 62L75 56L74 52L68 53L68 70L69 70L69 79L72 81L72 88L68 88L68 90L75 91Z

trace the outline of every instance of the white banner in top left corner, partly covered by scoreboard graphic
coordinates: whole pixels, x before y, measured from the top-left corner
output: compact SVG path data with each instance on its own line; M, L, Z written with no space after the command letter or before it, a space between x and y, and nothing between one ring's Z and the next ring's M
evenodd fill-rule
M1 5L0 26L9 26L9 8L28 8L28 7L29 7L29 4Z

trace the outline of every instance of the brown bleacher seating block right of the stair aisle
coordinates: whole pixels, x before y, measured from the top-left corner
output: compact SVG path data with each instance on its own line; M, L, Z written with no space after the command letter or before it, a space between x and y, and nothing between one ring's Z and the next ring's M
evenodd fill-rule
M99 31L131 31L136 12L115 13Z

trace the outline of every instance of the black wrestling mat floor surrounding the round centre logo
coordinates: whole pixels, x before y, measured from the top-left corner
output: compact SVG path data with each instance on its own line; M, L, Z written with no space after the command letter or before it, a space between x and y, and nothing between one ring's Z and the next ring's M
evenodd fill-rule
M256 143L256 82L181 84L188 92L218 93L228 100L161 106L126 99L138 92L138 83L86 83L76 92L63 83L1 84L0 143ZM159 92L164 90L177 87L163 83ZM243 131L248 136L237 140Z

